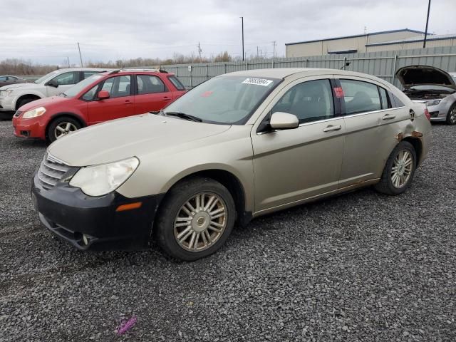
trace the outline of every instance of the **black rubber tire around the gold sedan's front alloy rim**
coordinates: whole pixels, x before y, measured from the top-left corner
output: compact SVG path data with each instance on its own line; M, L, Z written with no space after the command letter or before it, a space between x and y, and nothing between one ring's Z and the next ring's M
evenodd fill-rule
M195 197L202 192L217 195L217 197L222 199L226 209L226 217L224 219L225 226L217 240L215 240L213 244L209 244L209 247L204 247L206 249L201 251L189 251L184 247L181 247L177 242L177 238L175 237L175 221L177 221L177 217L180 214L183 205L189 201L189 199L192 199L192 197ZM209 256L222 247L227 241L229 234L232 232L235 219L236 209L234 207L234 200L226 187L210 178L192 177L177 183L177 185L172 187L167 193L160 206L159 212L157 213L157 219L155 220L154 226L154 237L163 251L170 255L170 257L183 261L195 261ZM210 222L212 222L211 220L212 218L209 219ZM190 224L188 224L187 228L189 227ZM209 232L209 229L207 230ZM204 234L204 232L201 234ZM195 240L197 239L198 238ZM206 241L205 237L204 240ZM190 244L192 244L192 242L190 242Z

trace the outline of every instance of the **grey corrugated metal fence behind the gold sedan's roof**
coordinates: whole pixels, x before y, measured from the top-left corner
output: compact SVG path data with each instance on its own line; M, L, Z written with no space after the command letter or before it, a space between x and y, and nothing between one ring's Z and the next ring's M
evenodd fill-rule
M400 86L395 79L395 71L403 66L425 65L435 66L445 71L456 71L456 46L440 48L416 48L401 51L379 51L372 53L350 53L346 55L325 55L306 58L275 58L274 60L258 60L229 63L198 63L161 66L162 69L175 73L187 88L214 76L262 68L344 68L346 70L368 73L385 81Z

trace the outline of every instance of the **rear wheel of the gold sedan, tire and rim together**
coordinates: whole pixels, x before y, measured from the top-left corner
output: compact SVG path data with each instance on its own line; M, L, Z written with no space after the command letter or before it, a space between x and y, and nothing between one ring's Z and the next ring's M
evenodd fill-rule
M415 175L416 152L413 145L401 141L391 152L375 190L387 195L400 195L410 186Z

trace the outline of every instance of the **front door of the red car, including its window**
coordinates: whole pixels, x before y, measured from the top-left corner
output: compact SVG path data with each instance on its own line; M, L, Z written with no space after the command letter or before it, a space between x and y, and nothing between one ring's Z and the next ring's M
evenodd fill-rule
M103 86L97 90L108 91L110 97L98 100L97 96L88 102L90 124L102 123L107 120L124 118L135 114L135 99L131 86L132 76L118 75L106 78Z

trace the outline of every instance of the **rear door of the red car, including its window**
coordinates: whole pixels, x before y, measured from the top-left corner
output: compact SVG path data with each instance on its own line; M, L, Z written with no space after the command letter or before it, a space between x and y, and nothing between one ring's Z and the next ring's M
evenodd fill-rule
M158 76L136 75L135 113L142 114L165 108L173 100L172 92Z

